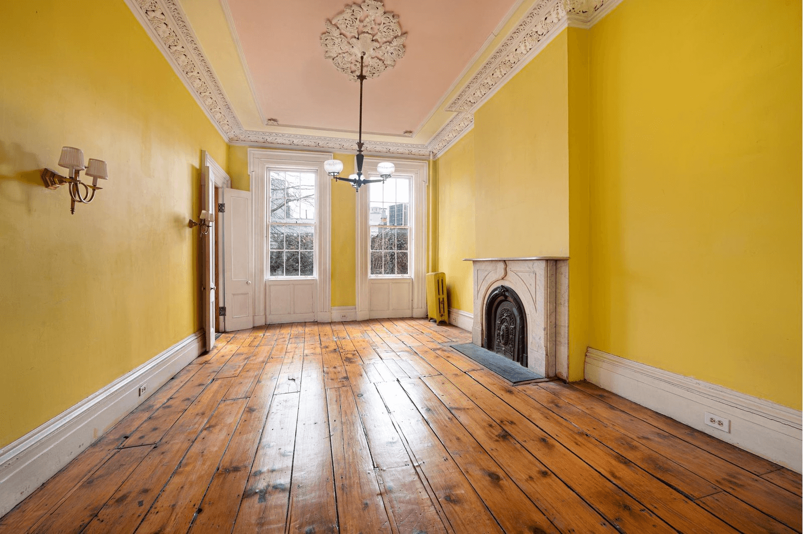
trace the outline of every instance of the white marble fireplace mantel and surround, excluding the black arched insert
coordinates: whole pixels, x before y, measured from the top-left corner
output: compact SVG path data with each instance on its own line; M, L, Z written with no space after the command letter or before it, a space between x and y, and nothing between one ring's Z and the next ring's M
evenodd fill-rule
M474 267L471 342L483 346L491 291L516 291L527 316L528 368L545 377L569 376L569 258L467 258Z

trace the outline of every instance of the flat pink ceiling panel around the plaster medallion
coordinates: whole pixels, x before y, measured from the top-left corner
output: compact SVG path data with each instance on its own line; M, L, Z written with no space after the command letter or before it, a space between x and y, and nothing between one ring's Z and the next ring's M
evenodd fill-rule
M324 59L324 21L344 0L228 0L266 118L357 131L359 86ZM350 3L360 3L348 2ZM385 0L407 33L395 67L365 81L363 131L416 130L516 0Z

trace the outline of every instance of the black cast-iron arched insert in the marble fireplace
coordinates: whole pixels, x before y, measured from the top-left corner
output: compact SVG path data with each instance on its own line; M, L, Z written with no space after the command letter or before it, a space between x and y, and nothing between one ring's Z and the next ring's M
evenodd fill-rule
M485 304L483 348L527 367L527 314L516 291L495 287Z

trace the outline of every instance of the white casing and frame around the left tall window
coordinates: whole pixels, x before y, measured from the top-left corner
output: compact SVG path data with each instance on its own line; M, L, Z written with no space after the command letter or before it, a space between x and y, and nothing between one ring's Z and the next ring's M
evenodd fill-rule
M267 319L267 281L269 278L269 254L267 245L268 214L267 169L271 168L306 168L316 169L316 246L315 277L317 280L316 318L320 322L329 322L331 297L331 182L332 179L324 170L324 161L332 159L332 153L301 152L293 150L248 149L248 173L251 176L251 195L254 202L254 251L255 251L255 316L266 324ZM308 280L311 277L281 277L286 280ZM277 279L277 278L274 278ZM257 319L258 321L259 319Z

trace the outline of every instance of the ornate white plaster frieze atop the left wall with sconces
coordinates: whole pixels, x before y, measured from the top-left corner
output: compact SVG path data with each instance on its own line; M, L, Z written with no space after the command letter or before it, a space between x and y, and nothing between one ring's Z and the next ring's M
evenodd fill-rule
M243 129L177 0L126 2L226 137Z

